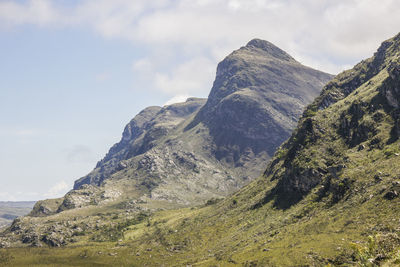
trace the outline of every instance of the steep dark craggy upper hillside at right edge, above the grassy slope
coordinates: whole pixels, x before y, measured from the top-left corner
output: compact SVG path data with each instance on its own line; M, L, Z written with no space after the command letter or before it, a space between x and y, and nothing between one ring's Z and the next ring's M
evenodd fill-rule
M383 149L399 139L399 51L400 34L383 42L373 57L337 75L324 87L278 152L280 157L265 172L278 180L266 199L275 198L277 206L287 208L323 185L321 192L329 192L332 201L337 201L353 182L337 180L351 149L360 153L367 147L368 151ZM388 140L385 127L392 127ZM394 196L393 192L397 193L390 191L388 196Z

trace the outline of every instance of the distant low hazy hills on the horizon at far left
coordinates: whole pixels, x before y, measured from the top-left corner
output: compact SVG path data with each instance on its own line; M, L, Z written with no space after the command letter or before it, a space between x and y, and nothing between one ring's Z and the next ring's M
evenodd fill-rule
M0 228L11 225L17 217L27 215L34 205L34 201L0 201Z

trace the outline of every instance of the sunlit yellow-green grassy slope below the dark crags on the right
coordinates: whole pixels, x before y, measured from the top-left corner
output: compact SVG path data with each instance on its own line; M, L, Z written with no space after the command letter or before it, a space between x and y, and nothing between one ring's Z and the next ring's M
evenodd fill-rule
M352 242L366 242L368 235L377 233L396 233L400 220L399 200L383 198L387 191L383 188L390 189L400 177L397 168L400 157L396 155L400 153L399 141L384 149L347 149L331 127L339 114L348 109L352 98L368 101L376 92L374 86L361 87L314 117L327 130L326 138L304 150L303 156L313 154L317 161L314 164L319 164L318 159L324 157L328 146L345 148L341 153L348 157L347 168L340 177L354 180L351 189L336 204L332 204L330 195L316 201L320 190L317 186L290 209L275 208L273 201L253 209L277 183L262 177L217 204L158 212L149 221L130 227L120 242L123 246L115 242L81 242L69 248L11 249L7 253L15 257L12 262L16 265L41 262L42 266L46 262L50 266L55 263L233 266L246 262L249 266L300 266L327 264L329 260L351 263ZM389 138L390 125L389 116L379 124L384 141ZM326 142L327 138L336 141ZM382 172L381 182L374 181L378 172Z

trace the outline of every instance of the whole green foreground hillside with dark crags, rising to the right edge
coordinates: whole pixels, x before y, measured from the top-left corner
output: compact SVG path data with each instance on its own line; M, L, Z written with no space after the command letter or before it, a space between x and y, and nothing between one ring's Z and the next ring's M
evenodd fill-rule
M176 210L129 214L92 208L93 222L68 222L75 245L7 249L3 261L23 265L40 259L43 266L396 266L399 85L400 34L329 82L264 174L238 192ZM59 233L59 219L68 212L73 210L52 217L53 233ZM85 228L96 219L97 228ZM9 231L23 234L23 223L14 222Z

